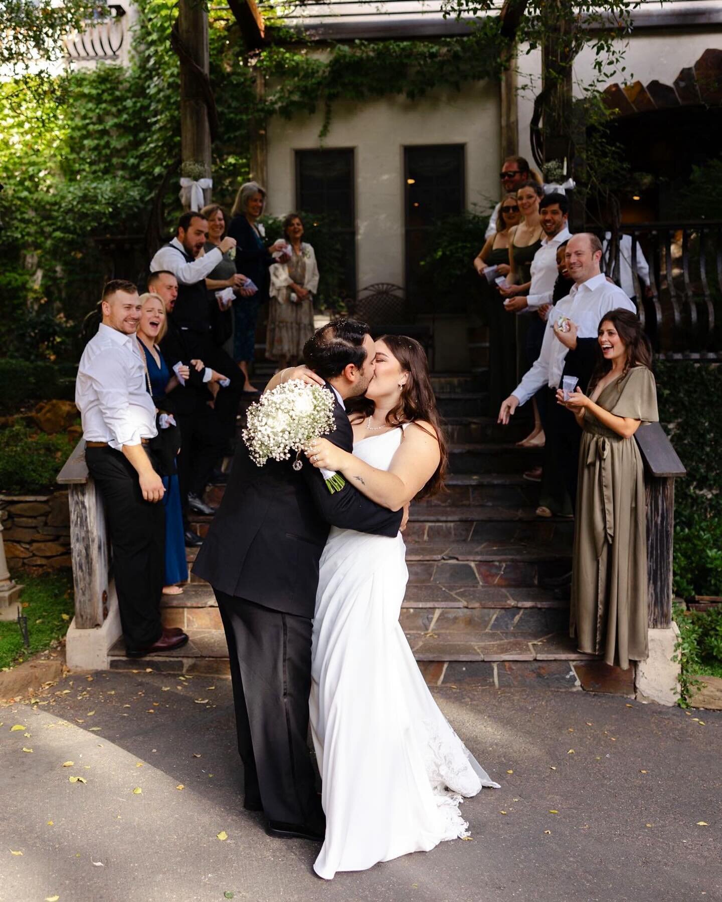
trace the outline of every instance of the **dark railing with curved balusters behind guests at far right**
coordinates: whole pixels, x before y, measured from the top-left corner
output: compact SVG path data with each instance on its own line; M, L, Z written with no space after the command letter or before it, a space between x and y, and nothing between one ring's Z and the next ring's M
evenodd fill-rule
M632 237L632 270L644 330L667 359L722 359L722 220L621 226ZM639 284L636 248L650 268L650 297ZM618 281L619 256L610 254Z

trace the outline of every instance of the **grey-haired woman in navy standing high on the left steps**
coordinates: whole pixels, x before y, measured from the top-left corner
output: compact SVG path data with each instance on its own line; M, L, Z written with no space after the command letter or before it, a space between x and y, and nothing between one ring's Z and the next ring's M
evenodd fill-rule
M250 298L238 298L233 302L234 340L233 359L244 374L244 391L257 391L248 378L248 366L255 355L255 321L258 308L268 300L270 277L268 270L273 263L284 263L290 258L282 254L277 260L273 251L285 247L279 238L270 248L264 242L264 226L257 219L264 212L265 191L255 181L241 185L236 195L236 203L231 210L228 235L236 239L236 270L243 272L255 283L257 291Z

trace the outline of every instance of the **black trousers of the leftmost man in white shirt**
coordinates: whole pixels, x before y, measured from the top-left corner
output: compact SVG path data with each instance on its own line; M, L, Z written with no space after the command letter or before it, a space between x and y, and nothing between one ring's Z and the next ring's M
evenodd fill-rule
M162 633L165 508L143 501L138 474L120 451L86 448L85 459L105 502L125 649L138 651Z

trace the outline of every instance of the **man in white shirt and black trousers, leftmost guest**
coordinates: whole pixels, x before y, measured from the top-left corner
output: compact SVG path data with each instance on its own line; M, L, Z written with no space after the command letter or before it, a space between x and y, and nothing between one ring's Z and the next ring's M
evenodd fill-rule
M140 657L180 648L188 636L161 623L164 489L148 446L157 434L155 405L135 336L141 302L134 284L109 281L102 310L97 335L80 358L75 403L88 472L106 502L125 652Z

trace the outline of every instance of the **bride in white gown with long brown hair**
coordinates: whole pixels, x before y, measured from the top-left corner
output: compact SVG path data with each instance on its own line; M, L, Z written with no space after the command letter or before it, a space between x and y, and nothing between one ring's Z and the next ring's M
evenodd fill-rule
M395 511L440 490L447 450L421 345L384 336L375 350L366 396L347 402L354 453L325 438L306 453ZM310 723L326 814L314 870L325 879L467 836L462 796L498 787L440 712L403 634L404 556L401 534L333 527L320 560Z

